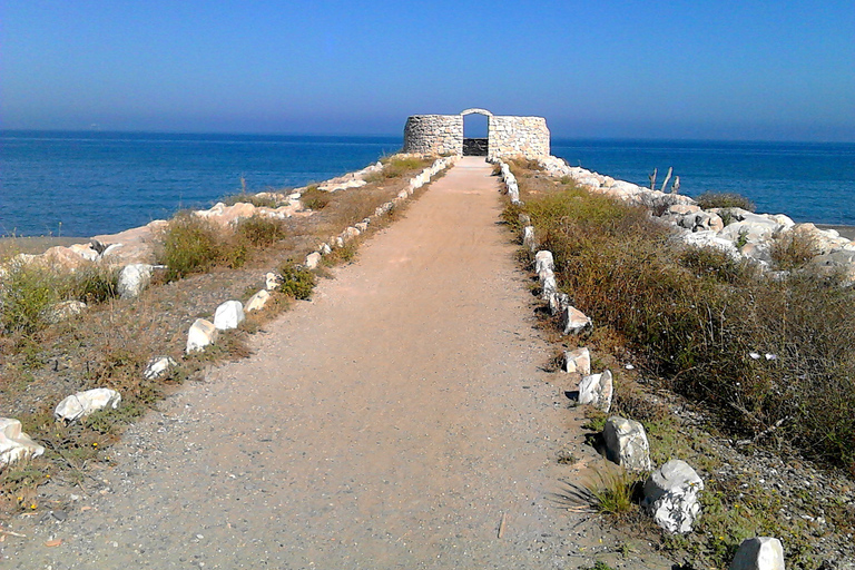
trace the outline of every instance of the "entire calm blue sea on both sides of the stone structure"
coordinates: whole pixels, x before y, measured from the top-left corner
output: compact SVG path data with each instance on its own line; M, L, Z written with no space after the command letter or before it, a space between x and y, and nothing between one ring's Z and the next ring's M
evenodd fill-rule
M242 190L321 181L395 153L397 137L0 131L0 236L89 237ZM758 212L855 225L855 144L553 138L552 154L680 193L737 191Z

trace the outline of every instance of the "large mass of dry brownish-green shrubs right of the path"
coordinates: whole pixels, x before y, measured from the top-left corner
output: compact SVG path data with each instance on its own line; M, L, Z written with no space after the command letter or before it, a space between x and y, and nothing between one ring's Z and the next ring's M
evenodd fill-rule
M578 189L524 202L561 287L596 326L712 404L721 425L778 424L806 455L855 469L855 289L805 272L766 278L679 245L643 208Z

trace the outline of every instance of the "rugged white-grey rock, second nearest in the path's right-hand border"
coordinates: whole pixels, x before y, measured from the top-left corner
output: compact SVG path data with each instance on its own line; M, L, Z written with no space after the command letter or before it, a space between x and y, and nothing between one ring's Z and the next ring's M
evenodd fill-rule
M695 470L672 459L647 480L641 505L666 532L685 534L700 514L698 492L702 490L704 481Z

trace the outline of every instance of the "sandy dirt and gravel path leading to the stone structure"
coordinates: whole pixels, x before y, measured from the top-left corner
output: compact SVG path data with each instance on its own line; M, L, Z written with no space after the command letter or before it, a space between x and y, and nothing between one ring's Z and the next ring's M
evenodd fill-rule
M613 551L554 494L577 473L559 451L597 460L539 370L497 189L463 159L254 357L132 428L67 520L21 523L0 566L589 568Z

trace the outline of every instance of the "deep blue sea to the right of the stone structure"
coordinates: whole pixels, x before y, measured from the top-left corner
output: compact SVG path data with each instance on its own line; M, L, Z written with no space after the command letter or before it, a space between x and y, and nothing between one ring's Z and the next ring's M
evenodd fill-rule
M645 187L672 166L680 194L737 191L760 213L855 225L855 144L553 140L552 154Z

